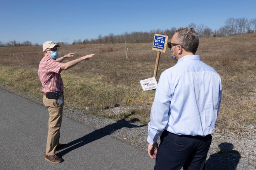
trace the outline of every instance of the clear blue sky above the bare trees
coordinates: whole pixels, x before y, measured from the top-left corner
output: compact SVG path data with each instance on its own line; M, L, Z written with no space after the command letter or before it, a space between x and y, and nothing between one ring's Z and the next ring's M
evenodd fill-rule
M256 18L256 0L0 0L0 41L33 44ZM153 37L152 37L153 38Z

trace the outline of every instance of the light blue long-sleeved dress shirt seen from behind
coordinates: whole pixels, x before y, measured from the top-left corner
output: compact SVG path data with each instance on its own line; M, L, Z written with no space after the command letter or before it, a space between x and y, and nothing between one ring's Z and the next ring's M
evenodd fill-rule
M220 109L221 78L198 55L178 59L157 84L150 113L147 142L151 145L165 130L177 135L211 134Z

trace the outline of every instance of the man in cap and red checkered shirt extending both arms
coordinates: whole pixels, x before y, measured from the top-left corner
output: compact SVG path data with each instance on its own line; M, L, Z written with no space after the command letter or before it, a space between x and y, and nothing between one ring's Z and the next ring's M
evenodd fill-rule
M52 41L43 43L42 58L38 68L38 76L42 83L43 104L48 108L48 136L46 144L45 160L52 163L60 163L62 159L55 155L55 151L66 148L67 144L59 144L60 129L62 121L62 110L64 106L63 82L61 71L67 70L82 60L92 58L94 54L89 54L78 59L61 63L66 57L73 57L74 53L66 54L58 58L59 44Z

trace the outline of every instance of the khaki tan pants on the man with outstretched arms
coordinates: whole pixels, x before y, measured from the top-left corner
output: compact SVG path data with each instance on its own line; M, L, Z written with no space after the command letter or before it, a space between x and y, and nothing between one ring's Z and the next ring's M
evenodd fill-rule
M63 94L61 95L64 101ZM48 136L46 144L46 155L55 155L55 148L59 144L60 129L62 121L62 111L64 102L59 105L58 100L48 99L43 96L43 104L48 108L49 121L48 121Z

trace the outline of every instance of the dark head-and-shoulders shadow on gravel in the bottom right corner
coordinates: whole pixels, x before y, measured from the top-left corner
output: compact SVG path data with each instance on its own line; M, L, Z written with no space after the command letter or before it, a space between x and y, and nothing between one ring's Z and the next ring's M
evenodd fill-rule
M206 170L235 170L241 155L238 151L233 150L232 143L221 143L220 151L210 155L206 161Z

